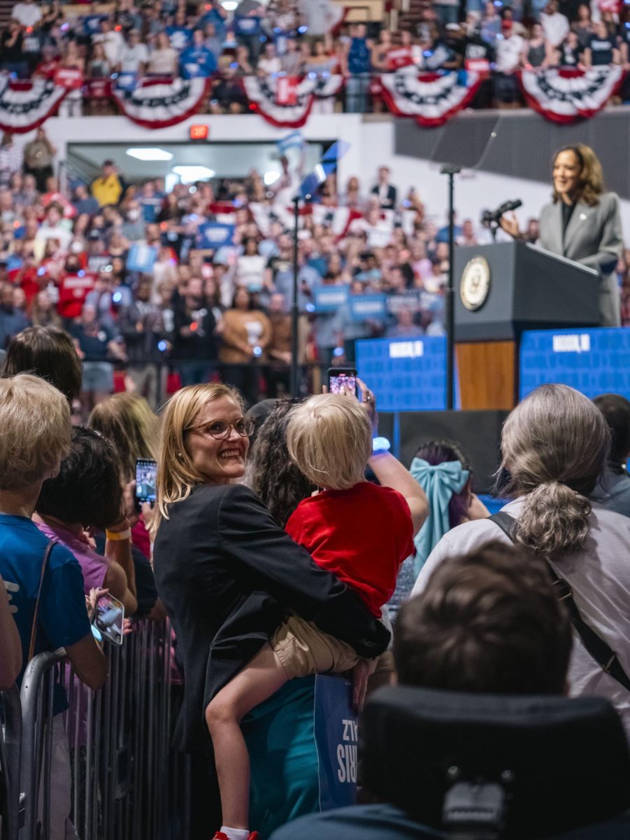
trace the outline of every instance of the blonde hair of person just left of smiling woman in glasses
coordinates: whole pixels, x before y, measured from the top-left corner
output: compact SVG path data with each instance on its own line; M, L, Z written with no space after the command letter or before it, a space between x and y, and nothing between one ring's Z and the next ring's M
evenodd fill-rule
M159 420L143 396L107 396L92 409L87 424L112 441L126 482L133 480L138 458L157 458Z

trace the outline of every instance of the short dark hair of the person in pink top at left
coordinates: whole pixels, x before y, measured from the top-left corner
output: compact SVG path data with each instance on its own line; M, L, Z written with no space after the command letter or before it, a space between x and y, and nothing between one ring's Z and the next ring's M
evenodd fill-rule
M84 528L108 528L122 517L120 460L100 432L75 426L59 475L44 481L35 510Z

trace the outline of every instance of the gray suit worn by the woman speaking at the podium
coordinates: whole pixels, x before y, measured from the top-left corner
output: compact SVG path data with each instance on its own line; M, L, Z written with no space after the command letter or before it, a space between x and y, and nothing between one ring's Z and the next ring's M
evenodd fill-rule
M540 245L554 254L599 271L601 326L620 326L615 266L622 254L623 239L617 195L614 192L602 193L594 207L577 202L564 242L560 202L545 205L540 213Z

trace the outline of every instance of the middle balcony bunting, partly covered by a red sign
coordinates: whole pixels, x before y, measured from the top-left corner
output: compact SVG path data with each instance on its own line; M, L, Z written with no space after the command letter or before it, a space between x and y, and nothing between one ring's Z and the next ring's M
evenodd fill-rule
M250 108L279 129L301 129L315 99L334 97L343 76L244 76L242 86Z

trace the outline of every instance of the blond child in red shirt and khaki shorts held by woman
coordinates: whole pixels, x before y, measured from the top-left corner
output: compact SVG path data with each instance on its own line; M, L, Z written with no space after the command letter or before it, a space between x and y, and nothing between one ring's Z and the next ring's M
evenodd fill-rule
M372 395L365 392L370 405ZM414 552L414 535L426 517L424 492L389 454L384 460L397 474L393 483L407 497L391 486L365 480L367 462L372 459L372 421L352 396L321 394L295 407L287 444L295 465L320 487L299 503L287 522L287 533L380 619L400 565ZM372 467L386 483L383 470ZM237 829L224 832L224 837L220 833L216 840L253 837L247 829L249 759L242 717L288 680L341 674L360 661L351 645L289 612L269 643L211 701L206 723L215 752L223 822ZM365 681L356 680L357 706L362 705L364 689Z

